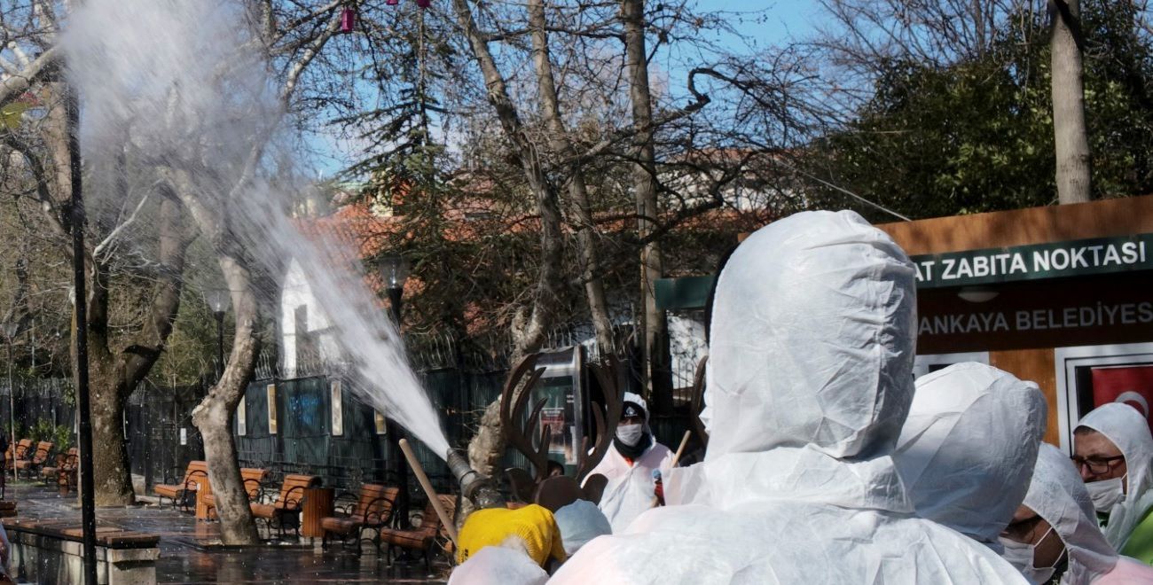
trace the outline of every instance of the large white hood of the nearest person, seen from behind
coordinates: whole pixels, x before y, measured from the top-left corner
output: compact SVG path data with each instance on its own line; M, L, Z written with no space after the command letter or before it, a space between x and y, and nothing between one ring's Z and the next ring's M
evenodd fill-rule
M915 272L852 212L753 233L717 283L707 459L776 447L891 451L913 390Z

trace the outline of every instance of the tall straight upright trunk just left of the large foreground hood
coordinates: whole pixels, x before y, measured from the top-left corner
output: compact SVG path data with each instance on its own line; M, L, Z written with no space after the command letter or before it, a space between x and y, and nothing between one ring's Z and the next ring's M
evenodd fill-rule
M653 96L649 91L648 59L645 50L645 1L621 0L625 30L625 67L628 68L628 99L633 127L633 197L641 240L657 226L661 210L656 197L656 154L653 147ZM641 297L645 312L642 377L658 412L672 410L672 371L669 364L669 332L664 311L656 306L656 280L664 275L661 245L653 241L641 249Z

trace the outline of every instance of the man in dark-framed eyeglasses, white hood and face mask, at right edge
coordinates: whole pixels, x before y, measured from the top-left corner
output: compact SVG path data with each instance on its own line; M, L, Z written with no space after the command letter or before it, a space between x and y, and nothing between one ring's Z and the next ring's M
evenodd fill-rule
M1072 459L1109 544L1153 564L1153 435L1145 417L1128 404L1099 407L1073 431Z

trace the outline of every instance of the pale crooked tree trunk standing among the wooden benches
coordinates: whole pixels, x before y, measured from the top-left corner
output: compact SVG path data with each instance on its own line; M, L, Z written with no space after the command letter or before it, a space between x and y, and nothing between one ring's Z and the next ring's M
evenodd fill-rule
M209 481L220 518L220 540L225 545L253 545L259 541L248 493L240 477L240 462L232 438L232 416L244 396L244 389L256 370L259 339L256 324L259 306L256 302L251 273L239 253L218 251L236 317L236 333L228 356L228 365L208 396L193 410L193 424L204 440L204 458L209 466Z

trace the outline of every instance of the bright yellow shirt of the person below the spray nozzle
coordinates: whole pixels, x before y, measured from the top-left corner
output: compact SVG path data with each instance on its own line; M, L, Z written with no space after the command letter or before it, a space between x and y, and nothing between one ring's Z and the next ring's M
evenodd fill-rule
M549 557L565 560L557 521L547 508L534 503L517 510L489 508L469 515L460 529L457 562L464 563L469 555L487 546L502 546L510 538L520 539L528 556L541 567Z

